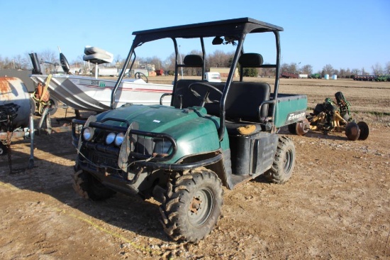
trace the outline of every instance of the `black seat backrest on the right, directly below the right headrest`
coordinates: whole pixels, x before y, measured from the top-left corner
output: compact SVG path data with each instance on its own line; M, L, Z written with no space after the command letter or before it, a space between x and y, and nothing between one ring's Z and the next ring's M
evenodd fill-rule
M225 103L226 119L261 122L268 114L271 87L266 82L232 82Z

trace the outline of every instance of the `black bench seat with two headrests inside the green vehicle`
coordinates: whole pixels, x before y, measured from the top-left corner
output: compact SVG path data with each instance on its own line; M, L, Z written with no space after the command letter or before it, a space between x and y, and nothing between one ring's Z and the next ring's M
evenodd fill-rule
M189 58L187 58L189 56ZM186 63L193 65L201 65L203 59L198 55L187 55L184 58ZM241 70L243 67L261 67L262 55L257 53L245 53L239 59ZM204 82L202 80L179 80L173 97L173 106L182 108L199 106L201 101L197 99L189 90L189 85L195 82ZM223 91L225 83L211 83L208 84L217 87ZM206 92L199 88L199 94ZM236 126L245 124L261 124L266 121L268 117L269 104L262 104L269 101L271 87L266 82L232 82L229 88L228 95L225 102L225 119L228 121L226 126L234 129ZM221 94L211 91L210 99L221 99ZM220 104L205 104L208 114L219 117Z

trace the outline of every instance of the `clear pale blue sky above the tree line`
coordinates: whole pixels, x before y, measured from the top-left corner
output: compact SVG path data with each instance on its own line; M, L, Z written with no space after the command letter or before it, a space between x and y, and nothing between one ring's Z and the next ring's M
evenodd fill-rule
M282 62L312 65L314 72L335 69L371 71L390 62L390 1L0 1L0 56L13 58L60 46L69 62L84 46L126 58L131 33L188 23L250 17L282 26ZM182 48L189 53L193 48ZM173 48L157 46L138 57L165 60Z

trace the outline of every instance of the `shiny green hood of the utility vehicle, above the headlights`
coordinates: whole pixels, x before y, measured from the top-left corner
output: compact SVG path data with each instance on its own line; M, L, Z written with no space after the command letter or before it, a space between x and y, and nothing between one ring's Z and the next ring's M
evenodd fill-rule
M207 115L204 107L176 109L160 105L128 105L101 113L96 116L96 121L124 127L133 124L139 131L172 136L177 142L177 154L170 162L221 148L219 118Z

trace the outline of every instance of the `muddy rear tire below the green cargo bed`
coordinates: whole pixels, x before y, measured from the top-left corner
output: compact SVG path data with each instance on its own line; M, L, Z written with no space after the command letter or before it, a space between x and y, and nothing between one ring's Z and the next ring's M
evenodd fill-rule
M264 176L272 183L286 183L286 181L291 178L294 166L294 142L286 136L279 136L274 163L272 163L272 167L264 173Z

